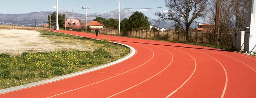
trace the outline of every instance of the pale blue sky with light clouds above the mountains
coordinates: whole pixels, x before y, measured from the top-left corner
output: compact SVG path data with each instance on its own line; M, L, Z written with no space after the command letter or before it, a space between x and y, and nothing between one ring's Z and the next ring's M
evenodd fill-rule
M73 9L74 13L79 14L85 14L85 9L82 9L82 7L90 8L87 10L87 14L104 14L119 8L119 0L58 0L58 2L59 10L72 11ZM56 4L57 0L3 0L1 1L0 14L26 14L30 12L56 11ZM140 11L144 13L145 16L152 19L158 18L154 15L157 11L167 11L168 7L165 6L164 0L120 0L121 8L136 8L138 10L127 10Z

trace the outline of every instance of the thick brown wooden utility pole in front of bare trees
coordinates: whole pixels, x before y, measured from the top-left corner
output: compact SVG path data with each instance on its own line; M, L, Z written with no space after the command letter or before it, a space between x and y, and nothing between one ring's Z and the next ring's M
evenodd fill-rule
M219 46L219 27L220 27L220 9L221 0L217 0L216 3L216 16L215 16L215 34L217 35L217 45Z

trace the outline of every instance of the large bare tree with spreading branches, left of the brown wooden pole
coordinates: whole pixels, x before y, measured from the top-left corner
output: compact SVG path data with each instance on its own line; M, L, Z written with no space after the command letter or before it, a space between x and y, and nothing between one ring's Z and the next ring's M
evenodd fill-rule
M165 0L169 6L168 12L156 12L160 21L171 20L175 27L186 33L186 40L189 40L190 25L197 18L204 18L206 15L208 0Z

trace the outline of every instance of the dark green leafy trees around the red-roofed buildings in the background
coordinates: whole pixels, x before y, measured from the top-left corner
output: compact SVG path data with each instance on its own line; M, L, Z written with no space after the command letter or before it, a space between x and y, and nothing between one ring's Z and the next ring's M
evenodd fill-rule
M59 27L63 28L65 26L65 14L59 14ZM79 20L79 19L78 19ZM108 29L118 29L118 19L110 18L105 19L102 17L97 17L93 21L97 21L103 24ZM81 20L79 20L81 23ZM56 12L48 15L48 23L52 26L56 25ZM149 30L150 23L148 18L142 12L134 12L129 18L125 18L120 22L120 29L125 30Z

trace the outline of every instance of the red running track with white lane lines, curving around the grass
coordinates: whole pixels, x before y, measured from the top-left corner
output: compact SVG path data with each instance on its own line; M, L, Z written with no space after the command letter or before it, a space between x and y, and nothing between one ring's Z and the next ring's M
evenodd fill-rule
M129 45L129 59L0 98L256 98L256 57L203 46L57 31Z

